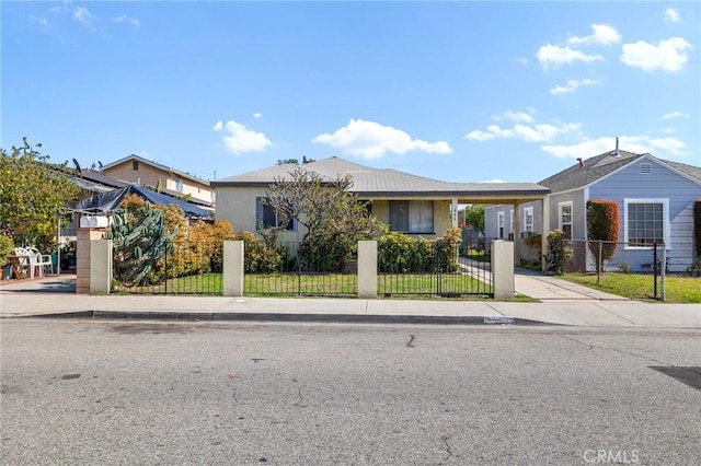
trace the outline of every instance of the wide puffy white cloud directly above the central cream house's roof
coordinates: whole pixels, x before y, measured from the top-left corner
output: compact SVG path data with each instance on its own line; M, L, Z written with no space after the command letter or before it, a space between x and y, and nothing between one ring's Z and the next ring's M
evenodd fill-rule
M333 135L323 133L312 142L329 144L350 155L378 159L387 153L403 154L409 151L446 154L452 149L446 141L427 142L412 137L401 129L383 126L375 121L350 119Z

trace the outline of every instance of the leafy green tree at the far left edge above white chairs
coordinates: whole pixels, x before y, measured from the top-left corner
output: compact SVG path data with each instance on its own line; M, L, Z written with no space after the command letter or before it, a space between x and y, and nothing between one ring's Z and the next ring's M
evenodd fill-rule
M0 232L16 245L46 248L56 235L59 208L79 188L69 179L67 163L49 164L49 155L38 151L41 143L22 142L9 152L0 149Z

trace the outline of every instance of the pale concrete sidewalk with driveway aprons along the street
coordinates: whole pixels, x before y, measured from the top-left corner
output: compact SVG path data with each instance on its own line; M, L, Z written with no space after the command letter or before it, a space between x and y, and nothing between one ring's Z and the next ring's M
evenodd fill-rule
M517 325L701 328L698 304L623 300L552 277L519 273L516 280L519 292L543 301L84 295L71 292L74 276L62 275L0 286L0 316L480 325L496 317Z

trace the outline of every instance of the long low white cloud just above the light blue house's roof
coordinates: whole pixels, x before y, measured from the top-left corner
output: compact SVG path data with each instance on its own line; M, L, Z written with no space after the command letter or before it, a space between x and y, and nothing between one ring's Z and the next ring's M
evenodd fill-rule
M648 136L621 136L621 150L635 153L650 152L656 156L683 156L687 144L677 138L651 138ZM579 141L570 145L541 145L541 149L558 158L587 159L616 148L616 138L597 138Z

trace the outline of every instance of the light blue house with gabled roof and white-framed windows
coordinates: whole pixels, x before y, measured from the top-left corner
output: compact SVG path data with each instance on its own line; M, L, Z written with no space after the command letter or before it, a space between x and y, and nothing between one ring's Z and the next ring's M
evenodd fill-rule
M540 202L490 206L485 235L508 238L513 234L518 242L531 232L560 229L573 240L587 240L586 203L606 199L618 202L619 242L628 243L618 247L607 268L614 270L627 263L634 271L651 270L652 244L660 241L667 247L670 271L683 271L696 259L693 203L701 198L701 167L614 150L579 160L539 184L551 189L545 222ZM575 251L579 251L578 267L594 270L586 247Z

